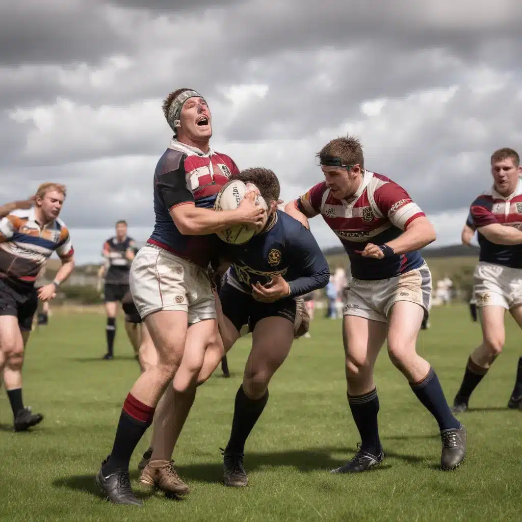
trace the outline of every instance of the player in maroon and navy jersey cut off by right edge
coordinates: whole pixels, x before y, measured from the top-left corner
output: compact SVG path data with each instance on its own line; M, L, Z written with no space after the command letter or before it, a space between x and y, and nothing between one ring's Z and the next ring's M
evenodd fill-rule
M478 232L479 264L473 288L479 309L482 343L468 358L453 410L468 409L473 390L488 373L505 342L506 310L522 327L522 173L520 157L510 148L491 156L493 186L473 201L470 230ZM522 358L508 408L522 409Z

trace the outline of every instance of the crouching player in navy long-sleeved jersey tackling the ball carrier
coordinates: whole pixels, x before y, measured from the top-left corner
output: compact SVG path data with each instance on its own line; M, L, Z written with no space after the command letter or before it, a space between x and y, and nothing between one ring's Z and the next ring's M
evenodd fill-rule
M223 257L232 263L218 301L224 346L207 350L203 367L189 389L180 389L174 377L173 392L161 406L171 412L170 422L155 431L152 456L140 477L144 484L176 494L187 493L188 487L172 476L169 462L193 404L196 384L205 382L217 368L223 349L228 352L242 334L251 331L252 349L243 383L235 395L230 440L223 450L223 482L233 487L247 485L245 442L267 404L270 379L286 359L296 329L300 329L295 321L296 298L325 287L330 277L312 233L277 209L280 186L274 172L246 169L236 179L258 188L269 207L266 224L247 244L221 246ZM304 302L301 305L304 310ZM184 364L185 359L182 367Z

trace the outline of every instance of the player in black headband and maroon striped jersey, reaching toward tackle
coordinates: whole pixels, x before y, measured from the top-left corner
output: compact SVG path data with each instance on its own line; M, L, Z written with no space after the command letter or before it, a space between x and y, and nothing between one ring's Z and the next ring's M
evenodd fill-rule
M419 249L435 240L435 231L404 188L364 169L358 139L331 140L318 157L325 181L286 210L303 224L321 214L350 258L343 341L348 402L362 442L333 472L365 471L384 458L373 368L385 340L393 364L438 423L441 467L453 469L466 455L466 430L450 411L434 369L416 351L431 298L430 270Z

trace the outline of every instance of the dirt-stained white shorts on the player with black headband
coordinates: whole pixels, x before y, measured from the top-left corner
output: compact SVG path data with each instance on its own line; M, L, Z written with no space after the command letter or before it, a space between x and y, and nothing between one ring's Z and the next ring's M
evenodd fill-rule
M346 289L343 315L356 315L387 323L392 305L416 303L428 315L431 307L431 272L425 263L414 270L374 281L353 278Z

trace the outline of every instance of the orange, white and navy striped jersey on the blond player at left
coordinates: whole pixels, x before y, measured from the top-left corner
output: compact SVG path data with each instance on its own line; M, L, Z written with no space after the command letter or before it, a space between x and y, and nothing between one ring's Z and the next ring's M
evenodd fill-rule
M62 259L74 254L62 220L55 219L41 227L34 207L15 210L0 220L0 278L32 286L55 251Z

